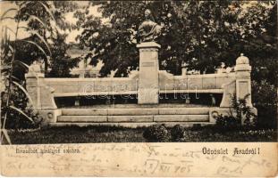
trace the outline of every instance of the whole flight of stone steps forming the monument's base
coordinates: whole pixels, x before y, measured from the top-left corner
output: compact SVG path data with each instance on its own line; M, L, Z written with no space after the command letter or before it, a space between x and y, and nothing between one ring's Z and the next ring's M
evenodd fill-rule
M143 108L141 106L144 106ZM46 125L121 125L129 127L165 125L215 124L218 115L236 117L232 108L186 108L183 105L170 108L160 105L137 105L136 108L88 108L39 110ZM257 114L257 109L251 111ZM242 124L244 121L242 119Z

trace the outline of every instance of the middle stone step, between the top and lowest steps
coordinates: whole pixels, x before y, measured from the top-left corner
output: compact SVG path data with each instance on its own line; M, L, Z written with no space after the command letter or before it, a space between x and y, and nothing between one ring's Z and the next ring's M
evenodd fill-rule
M208 122L208 115L59 116L57 122Z

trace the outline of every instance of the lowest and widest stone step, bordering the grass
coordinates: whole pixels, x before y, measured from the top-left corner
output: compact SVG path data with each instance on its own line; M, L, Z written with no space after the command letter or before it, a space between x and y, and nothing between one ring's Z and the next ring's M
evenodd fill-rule
M57 122L57 123L50 123L50 126L94 126L94 125L106 125L106 126L122 126L122 127L129 127L129 128L137 128L137 127L146 127L149 125L155 124L164 124L165 126L173 127L174 125L182 125L184 127L192 127L194 125L204 126L204 125L214 125L213 123L209 122L132 122L132 123L124 123L124 122L99 122L99 123L77 123L77 122Z

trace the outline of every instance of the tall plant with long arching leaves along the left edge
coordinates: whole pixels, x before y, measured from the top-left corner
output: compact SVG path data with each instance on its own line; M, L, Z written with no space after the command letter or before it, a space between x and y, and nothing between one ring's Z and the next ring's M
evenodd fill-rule
M38 117L38 114L32 111L32 100L29 93L25 89L24 81L21 78L14 77L13 74L16 73L16 67L21 66L25 70L28 69L28 65L22 61L18 61L15 57L17 50L19 49L19 44L11 43L10 31L13 32L14 42L18 39L19 29L21 28L21 20L17 19L21 14L22 9L26 8L29 2L23 2L19 4L18 9L8 9L1 17L1 21L5 19L15 19L16 29L13 31L7 26L2 27L4 32L1 36L1 82L4 85L1 88L1 142L5 139L11 144L9 135L6 129L8 128L26 128L29 126L36 127L42 120ZM50 10L42 4L49 16L52 16ZM7 12L14 11L16 15L14 18L6 16ZM23 17L25 17L23 15ZM31 16L32 19L37 20L41 23L41 20L36 16ZM9 32L8 32L9 30ZM45 48L50 52L50 48L46 43L45 39L39 35L38 31L32 30L30 34L36 35L40 40L40 43L45 45ZM38 50L43 53L47 59L46 51L36 42L30 40L20 40L26 44L35 45ZM31 71L30 71L31 72ZM25 119L25 120L24 120Z

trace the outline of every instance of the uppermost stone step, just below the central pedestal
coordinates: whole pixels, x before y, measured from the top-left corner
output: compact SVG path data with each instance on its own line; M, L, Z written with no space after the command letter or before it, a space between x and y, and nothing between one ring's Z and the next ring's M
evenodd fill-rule
M62 109L63 116L208 115L209 108Z

